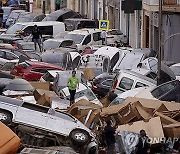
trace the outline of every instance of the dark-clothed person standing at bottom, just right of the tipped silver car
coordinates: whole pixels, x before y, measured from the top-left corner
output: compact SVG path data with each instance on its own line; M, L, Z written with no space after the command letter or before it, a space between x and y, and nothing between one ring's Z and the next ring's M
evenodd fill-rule
M107 144L107 154L115 153L115 129L111 126L111 122L108 120L104 128L105 140Z

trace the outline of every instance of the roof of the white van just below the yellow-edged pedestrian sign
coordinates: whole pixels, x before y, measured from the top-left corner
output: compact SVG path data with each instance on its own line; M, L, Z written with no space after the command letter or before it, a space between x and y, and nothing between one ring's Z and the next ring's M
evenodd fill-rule
M73 30L69 32L68 34L88 35L95 32L101 32L101 30L95 29L95 28L84 28L84 29Z

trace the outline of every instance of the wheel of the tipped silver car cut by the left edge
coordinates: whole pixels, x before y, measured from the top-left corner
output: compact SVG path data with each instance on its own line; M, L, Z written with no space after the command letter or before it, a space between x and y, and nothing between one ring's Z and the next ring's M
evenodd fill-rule
M5 125L10 124L12 122L12 114L7 111L0 110L0 121Z

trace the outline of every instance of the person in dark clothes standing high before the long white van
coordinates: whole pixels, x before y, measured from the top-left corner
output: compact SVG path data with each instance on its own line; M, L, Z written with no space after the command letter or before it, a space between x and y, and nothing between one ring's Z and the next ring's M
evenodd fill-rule
M41 32L40 32L37 25L34 25L34 27L33 27L32 36L33 36L35 50L37 49L36 45L38 44L39 45L39 50L40 50L40 52L42 52L42 47L41 47L42 35L41 35Z

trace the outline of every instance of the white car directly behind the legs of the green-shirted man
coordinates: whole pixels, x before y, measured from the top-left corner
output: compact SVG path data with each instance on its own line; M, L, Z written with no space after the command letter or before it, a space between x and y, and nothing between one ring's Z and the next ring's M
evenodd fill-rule
M64 98L70 97L68 87L63 88L60 91L60 97L64 97ZM81 99L86 99L94 104L103 106L102 103L98 100L96 95L92 92L92 90L88 86L86 86L82 83L79 83L79 89L76 90L76 94L75 94L75 102L77 102Z

